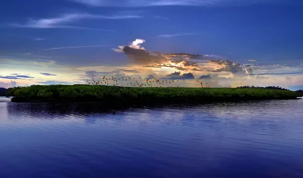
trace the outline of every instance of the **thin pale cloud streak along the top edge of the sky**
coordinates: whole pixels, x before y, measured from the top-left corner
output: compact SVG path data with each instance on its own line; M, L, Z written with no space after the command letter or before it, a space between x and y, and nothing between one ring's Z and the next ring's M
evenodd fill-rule
M97 7L149 7L149 6L220 6L220 5L248 5L273 0L69 0Z

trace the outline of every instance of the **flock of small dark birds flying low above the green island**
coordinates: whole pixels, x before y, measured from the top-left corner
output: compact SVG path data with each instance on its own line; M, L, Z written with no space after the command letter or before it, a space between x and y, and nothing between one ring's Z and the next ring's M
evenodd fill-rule
M182 80L167 80L167 79L158 79L155 77L152 77L151 79L145 79L143 80L142 77L105 77L101 80L95 80L92 78L92 82L89 82L87 80L87 83L89 85L107 85L107 86L121 86L121 87L173 87L172 84L174 84L174 87L179 87L177 85L178 83L185 81ZM200 87L210 87L209 84L203 84L199 80L195 81L196 85L199 85ZM122 84L123 83L123 84Z

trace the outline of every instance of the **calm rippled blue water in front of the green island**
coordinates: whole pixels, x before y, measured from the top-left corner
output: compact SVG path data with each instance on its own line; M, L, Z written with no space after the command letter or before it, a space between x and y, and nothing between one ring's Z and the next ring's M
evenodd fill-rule
M0 177L303 177L303 100L102 110L0 99Z

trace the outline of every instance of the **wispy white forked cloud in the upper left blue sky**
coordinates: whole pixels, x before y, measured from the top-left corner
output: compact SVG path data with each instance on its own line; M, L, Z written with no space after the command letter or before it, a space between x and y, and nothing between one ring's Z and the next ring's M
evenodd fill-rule
M20 27L20 28L36 28L36 29L49 29L49 28L72 28L72 29L91 29L91 30L104 30L104 31L112 31L108 29L93 29L87 27L79 27L79 26L71 26L67 25L72 22L76 22L84 19L138 19L142 18L139 15L92 15L92 14L63 14L59 17L49 18L49 19L30 19L25 24L11 24L12 27Z

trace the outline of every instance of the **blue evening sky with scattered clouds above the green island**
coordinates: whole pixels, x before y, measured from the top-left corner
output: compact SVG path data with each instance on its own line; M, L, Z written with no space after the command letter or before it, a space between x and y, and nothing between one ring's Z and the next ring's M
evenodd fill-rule
M115 76L303 89L302 8L302 0L4 1L0 87Z

